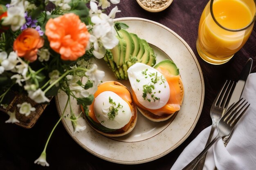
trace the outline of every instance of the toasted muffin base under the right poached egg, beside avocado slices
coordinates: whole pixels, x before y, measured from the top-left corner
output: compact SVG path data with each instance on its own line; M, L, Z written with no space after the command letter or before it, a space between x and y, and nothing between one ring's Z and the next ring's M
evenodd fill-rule
M183 87L181 77L179 79L179 85L180 85L180 97L181 97L180 98L180 106L181 106L182 102L183 102L183 98L184 98L184 87ZM139 106L137 106L137 108L144 117L146 117L147 119L149 119L151 121L155 121L155 122L165 121L167 119L170 119L176 113L175 112L172 114L163 114L163 115L159 116L159 115L155 115L155 114L151 113L148 110L144 110L144 109L140 108Z

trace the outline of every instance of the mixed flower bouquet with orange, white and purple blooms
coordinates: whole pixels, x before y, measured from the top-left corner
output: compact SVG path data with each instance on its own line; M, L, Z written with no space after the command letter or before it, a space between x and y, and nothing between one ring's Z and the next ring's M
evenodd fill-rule
M120 0L110 0L113 4ZM98 9L99 7L99 9ZM107 15L108 0L1 0L0 1L0 104L10 104L10 93L27 96L36 104L48 104L59 91L67 94L65 109L71 99L87 108L94 99L104 72L92 64L102 58L107 49L118 44L116 31L127 27L114 23L117 7ZM85 83L81 78L85 79ZM16 113L29 116L34 104L21 102L8 111L7 123L19 122ZM85 110L85 112L88 110ZM64 115L65 111L63 112ZM49 166L46 148L35 163ZM84 130L73 113L74 132Z

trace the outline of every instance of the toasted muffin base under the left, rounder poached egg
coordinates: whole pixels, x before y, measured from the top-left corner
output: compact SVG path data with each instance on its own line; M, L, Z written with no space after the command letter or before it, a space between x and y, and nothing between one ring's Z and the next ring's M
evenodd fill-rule
M116 81L107 81L107 82L114 82L115 85L119 85L119 86L124 86L123 84L119 83L119 82L116 82ZM100 85L104 84L104 83L107 83L107 82L103 82ZM127 88L126 86L124 86L125 88ZM128 89L128 88L127 88ZM122 129L117 129L115 131L112 131L112 132L102 132L101 130L99 130L98 128L94 127L90 121L88 120L88 118L85 116L85 120L88 122L88 124L97 132L99 132L101 135L104 135L104 136L107 136L107 137L120 137L120 136L124 136L128 133L130 133L134 128L135 128L135 125L137 124L137 107L136 107L136 104L134 102L131 103L131 106L133 108L133 116L132 116L132 122L129 126L129 128L124 131Z

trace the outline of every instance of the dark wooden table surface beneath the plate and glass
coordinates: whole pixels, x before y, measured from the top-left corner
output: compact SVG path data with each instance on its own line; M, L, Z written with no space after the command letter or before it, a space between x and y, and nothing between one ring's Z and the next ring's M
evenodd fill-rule
M226 79L237 80L249 57L254 60L252 73L256 72L256 26L245 46L226 64L219 66L204 62L196 51L200 15L207 0L173 0L165 11L144 11L136 0L121 0L117 5L121 13L116 18L139 17L159 22L180 35L191 47L201 66L205 84L204 106L200 119L191 135L172 152L157 160L123 165L100 159L85 151L68 135L62 124L56 128L47 148L49 167L34 164L43 150L49 132L59 119L55 101L52 100L31 129L6 124L8 116L0 113L0 170L169 170L182 150L207 126L211 125L209 110Z

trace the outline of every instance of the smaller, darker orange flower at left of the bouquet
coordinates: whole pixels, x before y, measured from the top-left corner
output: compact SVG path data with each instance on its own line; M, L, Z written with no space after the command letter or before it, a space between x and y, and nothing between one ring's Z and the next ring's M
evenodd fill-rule
M44 44L36 29L28 28L23 30L13 43L13 50L17 51L19 57L34 62L37 58L37 51Z

